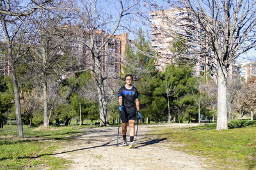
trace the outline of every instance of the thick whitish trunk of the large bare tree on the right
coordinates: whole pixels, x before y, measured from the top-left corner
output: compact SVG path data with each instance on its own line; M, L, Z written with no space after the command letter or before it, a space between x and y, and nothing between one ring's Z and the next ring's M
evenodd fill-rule
M217 131L228 129L227 118L227 76L218 64L218 106L217 106ZM226 74L227 75L227 74Z

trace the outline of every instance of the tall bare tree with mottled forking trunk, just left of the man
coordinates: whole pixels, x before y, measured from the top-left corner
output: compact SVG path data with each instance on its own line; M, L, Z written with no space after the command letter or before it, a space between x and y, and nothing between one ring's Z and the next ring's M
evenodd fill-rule
M111 4L111 9L113 10L110 13L106 11L106 7L102 6L101 1L69 0L70 6L68 8L72 9L72 16L77 18L77 24L79 23L84 29L80 43L88 49L88 57L92 60L90 70L95 76L97 85L100 125L106 125L108 122L106 89L104 87L104 80L108 76L103 74L102 65L102 57L106 51L104 48L118 30L121 20L125 15L129 15L129 10L139 1L132 1L132 3L124 3L122 0L118 0L116 3L104 1L105 4ZM108 34L104 35L104 31Z

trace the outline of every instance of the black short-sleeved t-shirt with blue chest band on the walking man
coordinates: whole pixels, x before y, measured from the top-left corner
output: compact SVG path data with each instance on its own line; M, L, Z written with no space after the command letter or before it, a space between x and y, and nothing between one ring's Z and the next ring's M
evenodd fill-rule
M119 89L118 97L123 97L123 106L127 110L136 110L135 99L140 97L138 90L132 86L131 89L127 89L125 86Z

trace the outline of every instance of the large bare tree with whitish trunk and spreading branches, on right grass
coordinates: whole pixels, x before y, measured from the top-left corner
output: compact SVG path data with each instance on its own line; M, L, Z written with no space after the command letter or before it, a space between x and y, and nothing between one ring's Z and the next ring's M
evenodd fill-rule
M191 50L186 52L186 55L172 57L191 60L191 62L203 62L216 74L218 80L216 130L228 129L228 71L239 55L256 46L254 34L256 31L256 1L180 0L168 1L168 3L170 7L182 11L181 15L170 18L170 15L164 14L163 8L162 10L158 8L160 15L162 13L163 19L170 25L179 27L181 31L176 31L176 33L184 37L186 41L191 41L200 47L190 48ZM180 24L181 20L187 20L191 24ZM173 38L175 37L173 33L175 32L169 31L168 35ZM187 45L190 44L187 43Z

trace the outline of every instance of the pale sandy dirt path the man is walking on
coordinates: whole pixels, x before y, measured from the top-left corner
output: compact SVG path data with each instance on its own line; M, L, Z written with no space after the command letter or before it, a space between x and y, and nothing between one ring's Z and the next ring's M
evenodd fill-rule
M196 124L168 124L171 127L184 125ZM68 169L205 169L203 158L175 151L173 143L159 136L147 136L152 126L157 125L139 126L137 146L133 149L121 146L122 138L118 139L119 146L116 147L118 127L88 129L64 143L56 157L72 160L74 163Z

